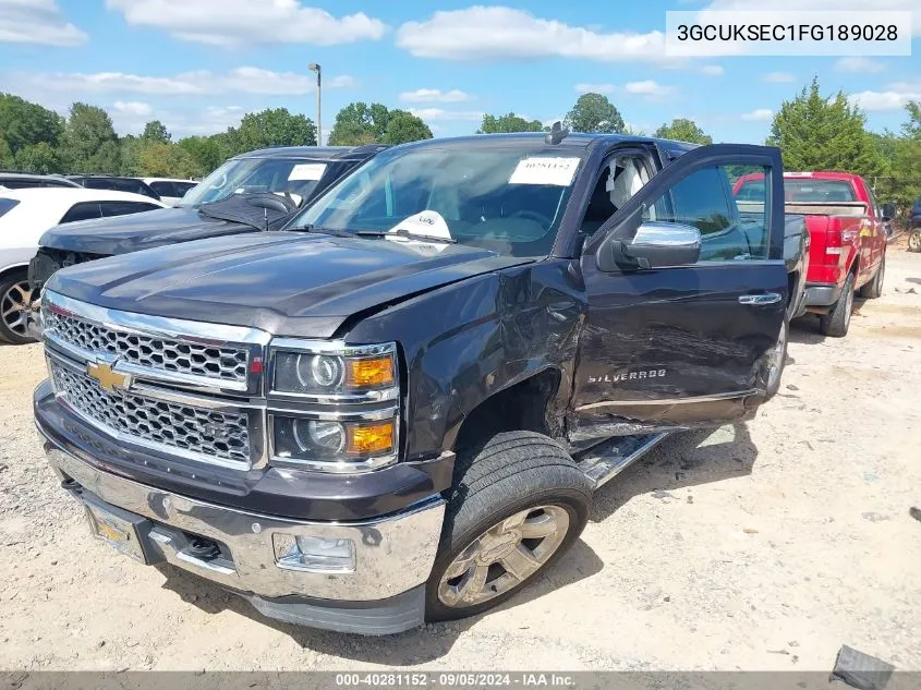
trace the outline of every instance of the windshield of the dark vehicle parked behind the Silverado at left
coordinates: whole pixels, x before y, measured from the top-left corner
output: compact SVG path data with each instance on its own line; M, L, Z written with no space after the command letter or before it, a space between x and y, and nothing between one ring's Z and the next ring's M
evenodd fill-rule
M179 206L220 202L231 194L274 192L300 204L326 173L325 162L291 158L233 158L189 190Z

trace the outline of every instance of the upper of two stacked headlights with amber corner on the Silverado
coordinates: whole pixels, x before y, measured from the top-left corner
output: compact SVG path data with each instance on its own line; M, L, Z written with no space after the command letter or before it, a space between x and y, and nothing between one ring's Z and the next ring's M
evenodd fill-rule
M286 340L276 343L272 352L275 392L334 400L397 397L393 343L344 346Z

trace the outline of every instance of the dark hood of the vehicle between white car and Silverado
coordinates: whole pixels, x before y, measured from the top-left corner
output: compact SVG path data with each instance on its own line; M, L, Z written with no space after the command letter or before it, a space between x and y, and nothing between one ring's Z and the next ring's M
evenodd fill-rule
M195 208L174 207L56 226L43 234L38 243L68 252L111 256L241 232L257 230L239 222L208 218Z

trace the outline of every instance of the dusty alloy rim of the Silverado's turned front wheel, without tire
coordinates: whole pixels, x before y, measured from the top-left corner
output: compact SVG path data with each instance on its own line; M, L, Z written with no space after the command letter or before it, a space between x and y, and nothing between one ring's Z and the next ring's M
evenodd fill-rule
M451 561L438 583L446 606L465 608L520 585L549 560L569 532L559 506L528 508L486 530Z

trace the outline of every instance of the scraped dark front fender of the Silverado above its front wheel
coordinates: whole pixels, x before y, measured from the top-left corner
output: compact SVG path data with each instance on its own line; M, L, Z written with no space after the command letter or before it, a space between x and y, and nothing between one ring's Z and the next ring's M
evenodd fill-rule
M488 433L501 421L497 410L562 436L584 307L578 266L546 259L426 292L361 322L347 339L400 343L405 457L424 460L468 443L480 426Z

